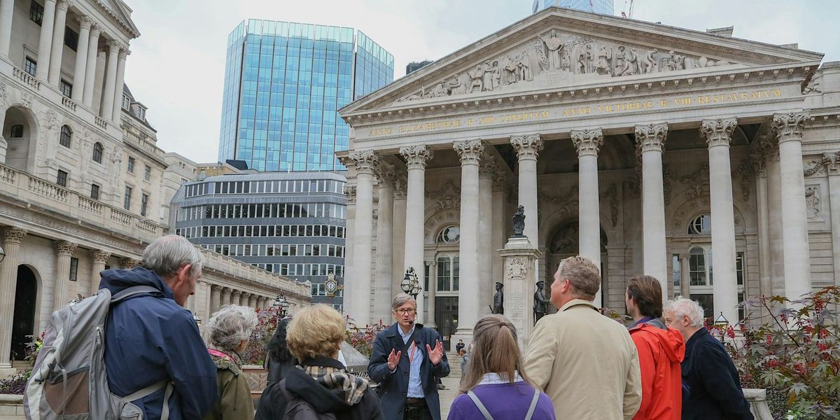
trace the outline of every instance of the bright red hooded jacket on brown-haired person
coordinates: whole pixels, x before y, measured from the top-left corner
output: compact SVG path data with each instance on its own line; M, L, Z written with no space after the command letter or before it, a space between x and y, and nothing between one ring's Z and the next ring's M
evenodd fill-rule
M642 370L642 406L633 420L680 420L680 363L685 356L682 335L654 319L631 328L630 338L638 349L638 365Z

